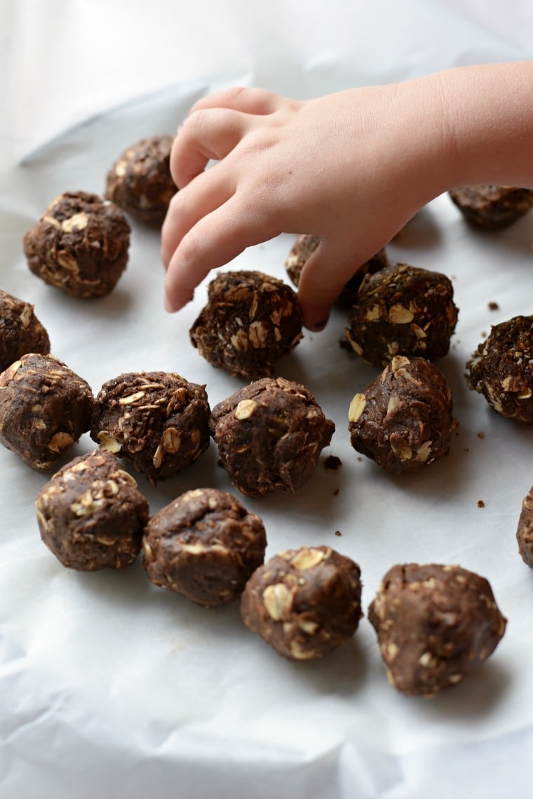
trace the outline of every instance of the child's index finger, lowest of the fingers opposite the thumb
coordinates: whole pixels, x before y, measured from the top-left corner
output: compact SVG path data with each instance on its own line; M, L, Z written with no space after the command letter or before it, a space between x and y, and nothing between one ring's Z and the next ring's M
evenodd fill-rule
M260 228L258 223L257 215L243 203L238 193L197 221L169 260L165 276L167 311L179 311L192 300L194 288L211 269L228 264L247 247L279 233Z

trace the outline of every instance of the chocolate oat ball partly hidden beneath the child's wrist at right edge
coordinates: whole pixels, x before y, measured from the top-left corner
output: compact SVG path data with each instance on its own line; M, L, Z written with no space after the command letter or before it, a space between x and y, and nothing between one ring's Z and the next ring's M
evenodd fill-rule
M533 191L515 186L464 186L448 195L465 220L483 230L507 228L533 208Z

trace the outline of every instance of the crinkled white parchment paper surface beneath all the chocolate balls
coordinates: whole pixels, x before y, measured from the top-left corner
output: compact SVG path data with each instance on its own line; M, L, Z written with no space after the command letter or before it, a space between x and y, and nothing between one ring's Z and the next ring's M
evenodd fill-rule
M172 133L212 89L267 85L306 97L523 58L527 47L531 55L529 6L517 0L499 29L492 5L4 2L1 287L34 303L54 354L94 392L121 372L166 369L205 383L212 405L224 399L242 382L189 343L207 281L188 308L165 314L157 233L133 224L116 290L84 301L29 272L23 234L62 191L100 193L122 149ZM533 313L532 238L531 214L475 233L443 196L388 247L391 260L454 283L459 324L439 365L459 427L446 459L392 478L357 457L348 405L376 370L339 347L345 318L335 311L279 369L334 419L331 447L298 495L243 499L265 522L267 557L326 543L359 562L364 610L396 562L459 562L486 576L509 621L483 670L433 701L404 698L388 685L367 618L328 658L297 664L249 633L237 604L194 606L152 586L140 561L121 573L66 570L38 535L34 499L46 476L2 449L2 799L533 796L533 574L515 543L533 431L500 418L464 380L491 324ZM251 248L230 268L285 278L293 240ZM92 448L85 435L68 459ZM324 469L329 454L339 471ZM190 487L233 491L213 444L176 479L138 482L152 512Z

